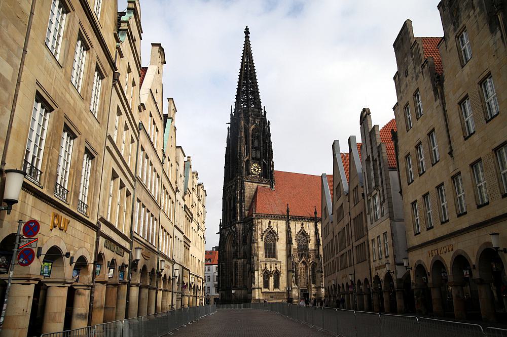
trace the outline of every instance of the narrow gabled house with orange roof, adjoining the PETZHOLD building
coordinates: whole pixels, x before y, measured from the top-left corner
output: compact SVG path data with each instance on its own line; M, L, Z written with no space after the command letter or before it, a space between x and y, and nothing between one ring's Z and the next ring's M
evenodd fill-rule
M361 111L361 158L368 205L368 236L375 312L414 312L410 273L403 265L407 257L403 201L400 195L391 119L382 129L372 125L370 109ZM389 270L387 270L387 266Z

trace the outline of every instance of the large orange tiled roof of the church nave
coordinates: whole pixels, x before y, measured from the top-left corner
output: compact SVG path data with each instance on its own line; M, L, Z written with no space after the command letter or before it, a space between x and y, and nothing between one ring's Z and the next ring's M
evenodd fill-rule
M320 218L321 181L320 176L302 173L275 171L275 189L258 186L249 207L248 214L261 213L284 215L287 204L291 215L300 217L314 216Z

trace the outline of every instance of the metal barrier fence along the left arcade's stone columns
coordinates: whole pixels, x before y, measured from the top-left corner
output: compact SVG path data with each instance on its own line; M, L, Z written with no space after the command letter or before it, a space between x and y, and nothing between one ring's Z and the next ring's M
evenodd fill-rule
M159 337L215 311L215 305L181 308L81 329L44 333L41 337Z

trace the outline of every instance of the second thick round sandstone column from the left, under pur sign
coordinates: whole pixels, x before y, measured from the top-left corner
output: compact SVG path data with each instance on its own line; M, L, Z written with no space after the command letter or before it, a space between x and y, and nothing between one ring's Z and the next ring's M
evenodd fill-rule
M44 310L44 320L42 322L42 333L63 331L67 290L70 283L61 281L48 281L44 283L47 284L48 290L46 293L46 308Z

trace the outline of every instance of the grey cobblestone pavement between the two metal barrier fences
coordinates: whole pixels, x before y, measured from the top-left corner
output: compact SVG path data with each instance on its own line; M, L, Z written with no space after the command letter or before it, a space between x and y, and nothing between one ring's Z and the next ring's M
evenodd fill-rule
M219 309L196 323L173 331L175 336L331 336L279 314L254 309Z

